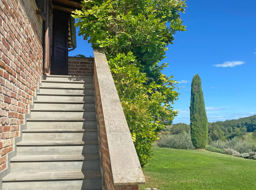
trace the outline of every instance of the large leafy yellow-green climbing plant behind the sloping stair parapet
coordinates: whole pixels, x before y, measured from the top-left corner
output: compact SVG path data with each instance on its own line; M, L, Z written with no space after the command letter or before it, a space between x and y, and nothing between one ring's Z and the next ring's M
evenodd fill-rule
M158 132L177 115L176 82L159 62L174 34L185 31L179 15L185 7L179 0L85 0L73 15L78 35L106 53L142 166Z

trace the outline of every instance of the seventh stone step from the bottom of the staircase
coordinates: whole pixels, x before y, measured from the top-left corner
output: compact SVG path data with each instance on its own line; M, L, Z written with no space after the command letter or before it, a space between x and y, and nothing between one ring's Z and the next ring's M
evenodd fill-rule
M85 101L34 101L34 109L95 109L95 103Z

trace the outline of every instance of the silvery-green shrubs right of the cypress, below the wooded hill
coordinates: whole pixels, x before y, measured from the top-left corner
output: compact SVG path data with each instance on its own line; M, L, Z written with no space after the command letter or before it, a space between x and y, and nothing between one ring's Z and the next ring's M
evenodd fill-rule
M248 144L248 142L239 139L238 137L234 137L231 140L226 141L215 140L210 142L209 145L221 150L233 149L239 153L248 153L253 150L253 145Z

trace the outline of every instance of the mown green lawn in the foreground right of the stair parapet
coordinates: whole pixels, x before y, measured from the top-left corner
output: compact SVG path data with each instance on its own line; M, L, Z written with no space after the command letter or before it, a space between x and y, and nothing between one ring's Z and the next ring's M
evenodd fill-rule
M153 151L141 190L256 190L256 160L203 150Z

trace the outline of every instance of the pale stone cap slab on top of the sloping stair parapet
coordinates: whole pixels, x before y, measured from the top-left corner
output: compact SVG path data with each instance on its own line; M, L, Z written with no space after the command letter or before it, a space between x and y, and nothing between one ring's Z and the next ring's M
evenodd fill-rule
M114 185L145 184L143 171L104 52L94 49L94 60Z

